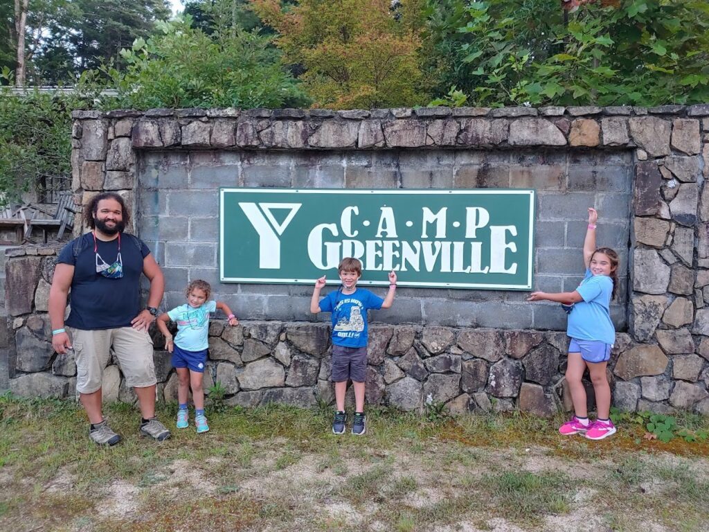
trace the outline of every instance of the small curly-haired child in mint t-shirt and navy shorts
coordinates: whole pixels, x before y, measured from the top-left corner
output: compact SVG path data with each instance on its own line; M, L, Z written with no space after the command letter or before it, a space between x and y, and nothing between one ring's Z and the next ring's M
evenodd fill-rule
M192 281L185 295L187 303L167 311L157 318L157 328L165 337L165 348L172 353L172 366L177 371L177 428L187 428L187 395L192 388L194 400L194 424L198 433L209 430L207 418L204 415L204 390L202 377L207 362L209 348L209 313L217 309L227 315L229 325L239 324L229 306L222 301L209 301L211 286L201 279ZM174 340L167 328L168 321L177 323L177 336Z

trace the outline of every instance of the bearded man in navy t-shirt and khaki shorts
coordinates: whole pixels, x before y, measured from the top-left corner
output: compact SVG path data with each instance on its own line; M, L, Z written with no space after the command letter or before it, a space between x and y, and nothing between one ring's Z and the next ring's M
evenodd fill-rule
M119 194L94 196L83 217L92 231L72 240L57 257L49 297L52 347L61 354L74 350L77 392L94 442L121 441L101 411L101 384L111 355L138 396L140 434L165 440L170 432L155 418L155 365L147 333L162 300L162 271L142 240L123 233L130 213ZM145 308L140 305L141 274L150 281ZM65 322L67 296L71 311Z

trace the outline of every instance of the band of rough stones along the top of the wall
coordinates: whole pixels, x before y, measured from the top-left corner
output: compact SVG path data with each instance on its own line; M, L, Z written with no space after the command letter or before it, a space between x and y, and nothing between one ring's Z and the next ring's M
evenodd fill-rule
M112 119L113 125L118 123L118 118L135 119L132 148L140 150L508 150L520 145L571 149L613 146L640 147L647 154L641 154L642 157L647 158L698 153L702 140L696 134L696 121L682 117L703 116L703 113L709 114L708 109L705 105L659 106L649 110L630 106L346 111L198 108L108 113L75 111L72 116L77 120L73 130L77 157L89 161L105 160L106 152L111 149L116 152L113 144L125 135L111 133L106 138L104 133L108 131L105 121ZM128 154L123 154L123 160L130 161Z

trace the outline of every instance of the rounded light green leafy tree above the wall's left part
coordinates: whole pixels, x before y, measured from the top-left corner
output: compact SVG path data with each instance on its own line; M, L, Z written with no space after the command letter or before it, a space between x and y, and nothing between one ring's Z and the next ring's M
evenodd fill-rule
M121 51L124 72L104 69L119 93L111 106L277 108L307 103L269 38L242 28L206 35L191 27L189 16L160 22L157 28L157 35Z

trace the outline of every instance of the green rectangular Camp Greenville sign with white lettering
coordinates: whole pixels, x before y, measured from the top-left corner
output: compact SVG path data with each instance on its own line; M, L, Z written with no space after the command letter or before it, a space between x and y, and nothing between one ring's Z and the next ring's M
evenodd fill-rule
M360 284L531 289L535 192L221 189L222 282L338 283L342 257Z

